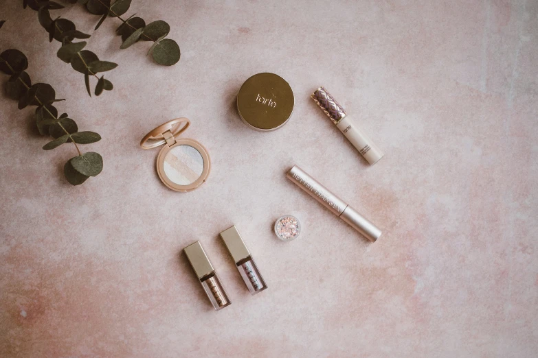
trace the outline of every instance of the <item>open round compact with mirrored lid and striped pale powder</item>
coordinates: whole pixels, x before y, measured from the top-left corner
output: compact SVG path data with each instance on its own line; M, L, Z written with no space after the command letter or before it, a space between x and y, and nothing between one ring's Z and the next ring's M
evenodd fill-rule
M196 189L210 173L210 157L205 147L193 139L177 138L189 126L186 118L172 119L146 134L140 142L143 149L164 145L157 156L157 173L175 191Z

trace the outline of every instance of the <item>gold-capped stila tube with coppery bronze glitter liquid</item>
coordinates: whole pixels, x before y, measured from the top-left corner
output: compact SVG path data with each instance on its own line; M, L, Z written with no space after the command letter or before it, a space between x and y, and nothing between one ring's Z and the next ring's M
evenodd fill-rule
M229 306L232 302L229 301L228 295L224 289L221 279L218 278L215 269L211 265L208 255L205 254L200 241L190 244L183 249L190 265L194 269L200 283L202 284L205 294L211 301L215 311Z

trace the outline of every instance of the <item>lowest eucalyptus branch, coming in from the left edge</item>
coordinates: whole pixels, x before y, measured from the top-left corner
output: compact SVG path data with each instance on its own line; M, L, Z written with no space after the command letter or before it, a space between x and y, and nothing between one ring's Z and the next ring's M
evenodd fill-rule
M78 126L67 113L58 116L54 102L56 91L50 84L32 84L30 75L25 72L28 60L24 53L16 49L8 49L0 53L0 71L10 75L6 85L8 97L19 101L19 109L33 105L36 108L36 126L42 135L50 135L54 140L43 146L44 150L53 150L63 143L72 142L78 155L69 159L64 165L65 178L70 184L82 184L90 176L97 176L102 171L103 160L95 152L82 153L80 144L100 141L101 136L96 132L78 132Z

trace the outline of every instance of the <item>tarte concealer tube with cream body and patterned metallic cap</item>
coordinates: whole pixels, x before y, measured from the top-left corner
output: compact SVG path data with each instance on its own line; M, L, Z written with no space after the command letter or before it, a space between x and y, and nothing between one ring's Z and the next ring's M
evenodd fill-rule
M359 126L353 123L348 115L346 115L344 108L335 101L333 96L324 87L317 88L317 91L311 97L322 108L327 117L335 123L340 132L368 160L370 165L374 165L379 159L383 158L384 154L379 147L372 142L372 139Z

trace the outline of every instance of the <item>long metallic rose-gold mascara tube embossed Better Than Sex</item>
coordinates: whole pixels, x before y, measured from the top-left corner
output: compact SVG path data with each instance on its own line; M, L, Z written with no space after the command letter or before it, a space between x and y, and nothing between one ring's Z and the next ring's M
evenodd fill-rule
M294 165L286 174L286 177L309 193L315 200L322 203L333 214L337 215L352 228L360 232L368 240L374 242L381 236L381 230L359 214L354 208L346 204L335 194L324 187L320 182L306 174L297 165Z

